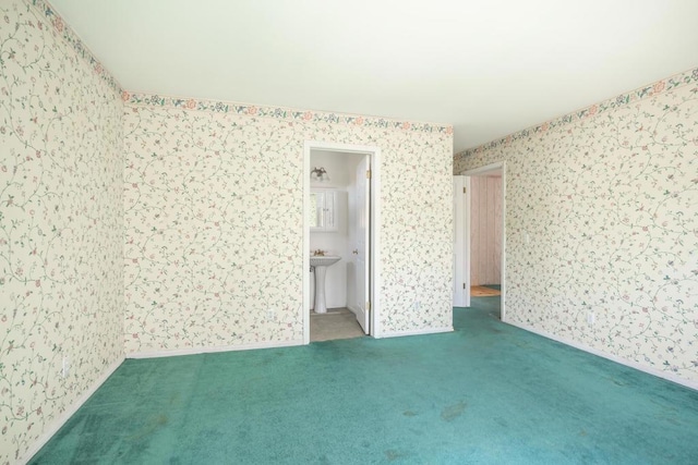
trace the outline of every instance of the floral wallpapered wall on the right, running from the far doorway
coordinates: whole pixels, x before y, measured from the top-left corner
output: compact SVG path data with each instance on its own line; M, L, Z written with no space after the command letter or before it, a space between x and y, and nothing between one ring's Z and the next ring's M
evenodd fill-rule
M454 171L501 160L507 319L696 386L698 69L458 154Z

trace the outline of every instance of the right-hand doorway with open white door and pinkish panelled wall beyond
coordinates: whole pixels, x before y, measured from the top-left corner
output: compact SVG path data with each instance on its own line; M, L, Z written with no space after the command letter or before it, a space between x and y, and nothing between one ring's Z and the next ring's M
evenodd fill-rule
M454 176L454 306L470 297L498 296L505 320L506 164Z

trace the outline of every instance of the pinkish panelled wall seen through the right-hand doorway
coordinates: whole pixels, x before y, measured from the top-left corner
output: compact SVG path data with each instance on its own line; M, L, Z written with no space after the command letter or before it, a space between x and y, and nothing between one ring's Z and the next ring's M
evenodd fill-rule
M470 284L501 284L502 178L470 178Z

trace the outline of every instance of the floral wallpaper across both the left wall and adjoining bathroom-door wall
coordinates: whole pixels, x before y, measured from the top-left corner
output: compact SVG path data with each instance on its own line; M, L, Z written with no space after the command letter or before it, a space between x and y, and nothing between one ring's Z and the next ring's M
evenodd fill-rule
M124 346L301 341L308 139L383 150L384 333L450 327L452 127L130 94L45 1L0 23L0 463Z

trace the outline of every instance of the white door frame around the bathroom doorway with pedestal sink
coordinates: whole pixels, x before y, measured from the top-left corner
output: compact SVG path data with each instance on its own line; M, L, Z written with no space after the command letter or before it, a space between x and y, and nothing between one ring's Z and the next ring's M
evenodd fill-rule
M310 344L310 152L311 150L344 151L371 156L371 245L369 247L370 278L370 335L381 338L381 148L368 145L338 144L330 142L305 140L303 148L303 344Z

